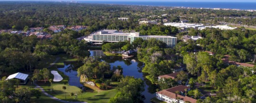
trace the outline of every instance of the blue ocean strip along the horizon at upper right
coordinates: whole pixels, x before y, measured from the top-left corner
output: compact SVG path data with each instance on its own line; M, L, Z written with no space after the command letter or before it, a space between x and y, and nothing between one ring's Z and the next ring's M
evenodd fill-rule
M174 2L174 1L79 1L80 3L122 4L190 8L256 9L256 2Z

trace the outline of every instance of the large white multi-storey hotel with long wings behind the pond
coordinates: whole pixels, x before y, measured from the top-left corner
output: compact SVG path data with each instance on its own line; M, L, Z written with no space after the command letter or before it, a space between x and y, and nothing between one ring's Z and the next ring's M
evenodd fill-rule
M173 36L139 35L138 32L124 33L118 32L118 30L101 30L96 33L90 34L90 36L84 38L84 40L93 44L102 44L103 41L110 43L129 41L130 43L132 43L137 38L142 38L143 40L155 38L156 40L166 43L167 47L170 48L174 47L177 42L177 37Z

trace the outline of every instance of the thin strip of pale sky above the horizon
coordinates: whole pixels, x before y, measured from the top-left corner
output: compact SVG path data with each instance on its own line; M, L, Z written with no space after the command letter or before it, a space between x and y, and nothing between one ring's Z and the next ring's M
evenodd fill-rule
M0 0L9 1L9 0ZM11 0L26 1L26 0ZM27 1L61 1L61 0L27 0ZM256 0L62 0L62 1L184 1L184 2L256 2Z

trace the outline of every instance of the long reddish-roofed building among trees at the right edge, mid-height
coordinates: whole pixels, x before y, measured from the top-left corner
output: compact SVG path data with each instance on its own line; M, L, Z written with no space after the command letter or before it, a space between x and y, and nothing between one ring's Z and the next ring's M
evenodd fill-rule
M253 64L247 64L247 63L240 63L240 62L236 62L236 61L230 61L229 60L230 55L224 55L224 58L221 59L224 61L224 63L228 64L228 65L236 65L236 66L243 66L243 67L254 67Z

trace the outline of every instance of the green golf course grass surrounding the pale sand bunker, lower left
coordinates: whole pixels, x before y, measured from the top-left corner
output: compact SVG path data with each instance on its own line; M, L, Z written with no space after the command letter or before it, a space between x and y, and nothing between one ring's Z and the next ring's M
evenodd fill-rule
M41 86L42 88L44 88L44 90L48 94L50 94L56 98L59 98L61 100L65 100L65 93L66 93L66 97L67 97L66 101L71 101L71 102L72 101L83 101L83 102L88 102L88 103L108 103L109 99L116 95L117 90L111 89L111 90L107 90L107 91L100 90L98 92L97 91L84 92L81 97L81 93L79 93L81 89L77 86L69 86L68 85L69 77L64 75L63 72L61 72L57 69L57 67L59 67L59 66L64 66L64 62L77 61L76 58L74 59L67 54L59 54L59 55L55 55L55 56L50 56L46 60L41 60L42 62L39 67L41 67L41 68L49 67L49 65L51 63L53 63L56 60L56 58L58 58L58 57L60 59L56 62L56 64L48 69L49 69L49 71L51 71L51 70L58 71L58 73L63 77L63 80L60 82L53 82L52 83L53 90L51 90L51 84L49 83L48 80L46 81L46 83L44 83L44 81L37 82L37 84L39 86ZM52 74L50 75L50 78L53 78ZM66 88L67 88L65 90L65 93L62 89L62 86L66 86ZM94 89L97 89L97 88L94 88ZM75 99L76 98L75 95L73 97L71 97L70 93L78 94L78 98ZM34 98L34 99L36 99L36 98ZM41 99L42 99L42 101L43 100L49 101L49 103L56 103L55 100L52 100L49 97L45 97L45 95L42 96ZM41 99L39 99L39 100L41 101Z

